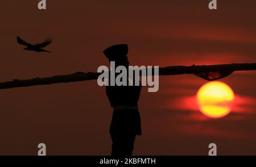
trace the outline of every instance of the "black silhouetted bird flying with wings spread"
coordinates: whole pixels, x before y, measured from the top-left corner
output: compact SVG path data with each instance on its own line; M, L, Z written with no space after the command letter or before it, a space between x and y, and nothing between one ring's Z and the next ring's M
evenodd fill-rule
M18 41L19 44L27 46L26 48L24 48L24 50L51 53L50 51L42 49L42 48L46 47L47 45L49 45L52 42L51 38L46 39L43 43L35 44L35 45L27 43L26 41L22 40L19 36L17 36L17 41Z

